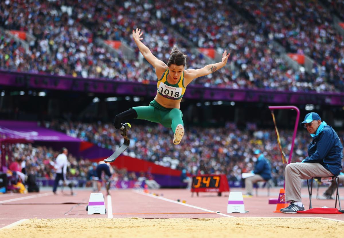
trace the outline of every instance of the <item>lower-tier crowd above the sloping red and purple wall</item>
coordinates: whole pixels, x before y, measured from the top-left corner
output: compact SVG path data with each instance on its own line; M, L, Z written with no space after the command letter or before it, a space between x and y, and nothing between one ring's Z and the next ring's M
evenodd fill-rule
M50 128L115 151L123 139L112 125L106 123L52 122ZM284 151L291 147L292 131L281 131ZM340 133L344 139L344 133ZM283 180L283 163L274 130L238 130L232 124L224 128L186 128L182 143L173 145L173 133L159 126L135 126L130 130L131 144L125 154L148 160L172 169L186 169L195 174L203 161L209 173L225 173L229 180L240 181L241 173L253 168L253 151L265 151L270 160L275 182ZM293 162L307 156L311 140L307 131L298 132Z

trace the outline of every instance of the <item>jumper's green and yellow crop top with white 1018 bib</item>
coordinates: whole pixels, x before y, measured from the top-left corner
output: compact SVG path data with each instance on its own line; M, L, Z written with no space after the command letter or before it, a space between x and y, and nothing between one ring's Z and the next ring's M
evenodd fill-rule
M172 100L181 99L186 89L186 87L184 87L184 72L182 73L178 83L176 84L169 84L167 82L167 75L169 74L169 72L170 70L166 69L160 80L158 80L158 93L164 98Z

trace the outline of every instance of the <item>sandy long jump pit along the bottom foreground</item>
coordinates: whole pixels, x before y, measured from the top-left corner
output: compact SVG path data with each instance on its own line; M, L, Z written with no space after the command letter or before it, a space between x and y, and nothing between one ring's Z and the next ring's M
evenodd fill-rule
M344 223L321 218L29 219L0 237L343 237Z

